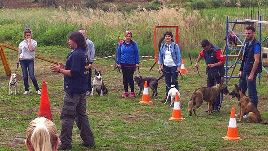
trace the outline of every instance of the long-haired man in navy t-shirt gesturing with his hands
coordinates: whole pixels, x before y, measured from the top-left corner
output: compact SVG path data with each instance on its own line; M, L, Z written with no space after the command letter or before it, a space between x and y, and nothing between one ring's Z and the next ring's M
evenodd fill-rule
M58 150L72 148L72 128L73 123L79 128L83 145L86 147L95 145L94 136L90 130L90 124L86 115L86 91L89 73L89 61L85 52L86 42L83 35L76 31L69 34L68 43L70 49L74 51L66 60L66 66L58 63L58 66L50 65L53 72L64 74L63 106L61 113L62 131L61 145Z

